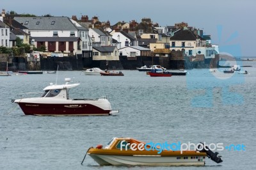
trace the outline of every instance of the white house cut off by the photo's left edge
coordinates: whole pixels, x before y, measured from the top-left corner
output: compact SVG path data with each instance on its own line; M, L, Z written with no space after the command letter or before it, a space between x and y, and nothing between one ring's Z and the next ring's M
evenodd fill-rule
M0 46L10 47L10 27L0 20Z

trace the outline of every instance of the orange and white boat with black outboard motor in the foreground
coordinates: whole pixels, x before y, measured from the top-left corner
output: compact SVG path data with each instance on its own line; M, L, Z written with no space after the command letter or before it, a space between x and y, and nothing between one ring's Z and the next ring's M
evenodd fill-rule
M130 137L114 137L105 148L102 145L91 147L86 154L100 166L204 166L206 157L216 163L223 162L218 152L213 153L204 144L202 147L200 151L161 150L159 153L160 150L148 143Z

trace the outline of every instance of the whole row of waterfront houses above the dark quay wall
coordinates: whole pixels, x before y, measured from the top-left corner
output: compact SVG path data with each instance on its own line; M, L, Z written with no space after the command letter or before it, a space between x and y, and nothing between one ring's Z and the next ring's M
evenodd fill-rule
M63 56L79 55L93 60L119 60L119 56L168 57L172 51L183 51L185 56L214 58L218 45L202 30L181 22L175 26L159 27L151 19L140 23L132 20L99 22L97 17L88 20L82 16L69 17L0 17L0 46L14 47L17 37L33 47L45 47L48 52ZM49 53L48 53L49 54Z

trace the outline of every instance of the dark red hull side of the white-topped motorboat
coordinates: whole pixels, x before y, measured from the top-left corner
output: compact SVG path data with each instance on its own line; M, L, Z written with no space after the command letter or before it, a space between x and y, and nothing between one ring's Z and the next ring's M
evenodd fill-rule
M26 115L39 116L90 116L108 115L109 110L101 109L91 104L30 104L19 103L20 108Z

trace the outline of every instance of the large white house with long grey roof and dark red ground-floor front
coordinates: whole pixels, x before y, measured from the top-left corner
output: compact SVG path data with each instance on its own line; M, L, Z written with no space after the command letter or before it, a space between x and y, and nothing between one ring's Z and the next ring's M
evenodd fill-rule
M90 56L92 42L88 29L68 17L15 17L20 24L28 27L33 45L42 45L49 52L63 52Z

